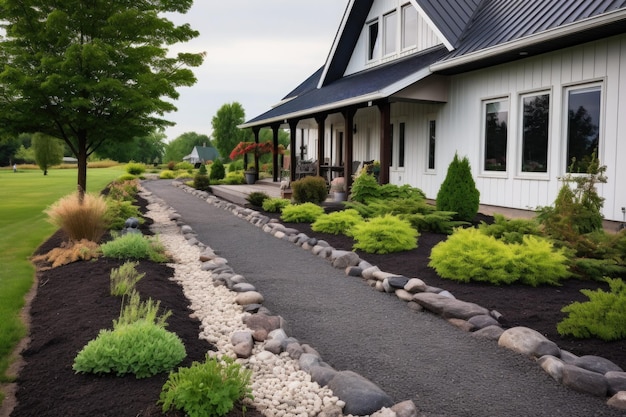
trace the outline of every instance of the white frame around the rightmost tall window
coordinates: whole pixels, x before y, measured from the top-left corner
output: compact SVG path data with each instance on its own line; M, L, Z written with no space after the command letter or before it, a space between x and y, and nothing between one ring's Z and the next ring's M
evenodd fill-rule
M569 158L569 146L570 146L570 138L569 138L569 106L570 106L570 93L572 91L579 91L579 92L583 92L583 91L598 91L600 93L600 98L599 98L599 112L598 112L598 144L597 144L597 148L596 148L596 156L598 158L600 158L601 154L601 150L602 150L602 146L603 146L603 135L604 135L604 129L605 129L605 123L604 123L604 109L606 107L604 100L606 99L606 94L604 91L604 82L602 80L597 80L597 81L590 81L590 82L586 82L586 83L576 83L576 84L570 84L570 85L564 85L563 86L563 116L562 116L562 123L563 123L563 140L562 140L562 151L561 151L561 157L563 159L562 162L562 167L561 167L561 172L565 173L565 174L572 174L572 175L584 175L586 173L585 170L581 170L580 172L569 172L569 167L572 163L572 161Z

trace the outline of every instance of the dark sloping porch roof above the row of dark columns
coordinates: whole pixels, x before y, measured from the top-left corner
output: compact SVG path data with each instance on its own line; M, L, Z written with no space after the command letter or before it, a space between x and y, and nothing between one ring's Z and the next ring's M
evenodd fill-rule
M341 78L319 89L311 88L317 84L314 81L319 80L321 76L321 71L318 70L294 90L294 92L299 92L299 95L292 94L291 96L295 96L295 98L247 121L246 124L281 118L284 115L313 110L332 103L358 99L358 97L379 92L403 78L410 77L419 70L427 68L446 53L447 50L443 47L433 48L422 54L412 55L391 64L381 65Z

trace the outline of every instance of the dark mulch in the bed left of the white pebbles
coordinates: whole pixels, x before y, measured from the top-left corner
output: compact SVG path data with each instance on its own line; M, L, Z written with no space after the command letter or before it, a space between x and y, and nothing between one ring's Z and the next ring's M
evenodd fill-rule
M144 232L147 226L142 226ZM56 233L37 253L58 247L62 240L62 234ZM17 405L11 417L163 415L156 403L167 380L165 373L136 379L80 375L72 370L76 354L100 329L110 329L119 316L121 298L109 294L109 282L111 269L122 263L99 258L38 272L37 293L31 303L31 341L23 352L26 364L18 376ZM137 284L142 298L160 300L161 307L173 313L168 330L182 339L187 351L181 366L203 361L206 352L215 347L198 338L200 323L189 317L189 302L182 288L169 280L172 268L141 261L137 270L146 274ZM167 415L182 417L183 413ZM262 417L254 409L244 414L241 407L228 417L244 415Z

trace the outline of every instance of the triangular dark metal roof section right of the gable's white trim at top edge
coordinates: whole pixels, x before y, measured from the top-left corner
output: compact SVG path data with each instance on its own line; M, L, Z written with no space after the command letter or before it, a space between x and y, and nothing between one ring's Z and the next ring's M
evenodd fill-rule
M452 46L456 46L480 3L481 0L417 0Z

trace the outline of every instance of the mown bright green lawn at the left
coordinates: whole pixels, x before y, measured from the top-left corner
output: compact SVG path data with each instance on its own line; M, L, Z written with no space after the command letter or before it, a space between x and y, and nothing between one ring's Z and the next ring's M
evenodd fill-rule
M88 192L99 192L123 174L123 167L89 169ZM76 169L0 169L0 382L14 378L7 367L15 345L26 335L19 315L33 284L29 257L55 232L43 213L60 197L76 190ZM3 399L0 392L0 403Z

